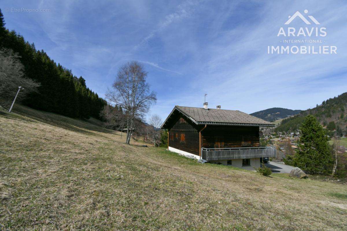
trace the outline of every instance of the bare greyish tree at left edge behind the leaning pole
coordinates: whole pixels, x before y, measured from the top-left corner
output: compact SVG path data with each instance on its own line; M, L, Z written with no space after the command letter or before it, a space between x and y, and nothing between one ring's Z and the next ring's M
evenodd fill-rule
M15 98L18 87L20 91L16 102L23 101L31 92L36 92L40 83L24 76L24 66L19 60L20 56L7 48L0 49L0 103L8 108Z

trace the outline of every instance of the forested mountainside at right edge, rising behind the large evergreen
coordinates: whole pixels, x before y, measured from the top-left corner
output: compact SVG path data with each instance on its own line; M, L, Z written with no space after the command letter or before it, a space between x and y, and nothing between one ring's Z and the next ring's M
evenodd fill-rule
M281 124L275 129L278 132L294 131L298 129L304 117L312 114L329 131L336 130L337 134L346 134L347 132L347 92L327 99L321 105L312 109L302 111L300 114L283 119Z

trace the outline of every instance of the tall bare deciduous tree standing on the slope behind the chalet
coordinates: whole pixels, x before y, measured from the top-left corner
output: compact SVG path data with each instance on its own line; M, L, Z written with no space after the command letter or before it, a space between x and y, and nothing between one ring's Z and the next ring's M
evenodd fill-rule
M124 109L128 128L127 144L135 128L135 119L142 120L151 104L156 102L156 94L150 92L146 78L147 72L141 63L128 62L119 68L113 89L108 89L106 94L108 100Z

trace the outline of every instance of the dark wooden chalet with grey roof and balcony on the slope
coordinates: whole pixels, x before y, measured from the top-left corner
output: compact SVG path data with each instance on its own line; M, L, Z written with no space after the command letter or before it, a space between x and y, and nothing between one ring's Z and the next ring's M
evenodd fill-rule
M168 149L188 157L248 170L276 148L260 147L259 127L275 125L238 110L175 106L161 128L169 130Z

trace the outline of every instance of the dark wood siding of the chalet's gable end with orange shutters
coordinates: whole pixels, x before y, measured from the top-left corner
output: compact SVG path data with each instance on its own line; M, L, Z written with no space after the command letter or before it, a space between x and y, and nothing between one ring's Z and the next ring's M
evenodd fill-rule
M169 130L169 134L174 136L174 140L169 140L169 146L199 155L198 127L189 119L183 118L184 121L182 121L181 118L177 118L177 122ZM184 134L184 142L181 142L181 134Z

